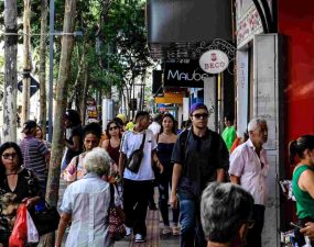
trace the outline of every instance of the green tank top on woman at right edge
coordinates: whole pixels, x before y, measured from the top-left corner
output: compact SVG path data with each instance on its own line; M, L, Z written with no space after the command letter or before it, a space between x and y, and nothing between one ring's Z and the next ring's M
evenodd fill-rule
M300 176L307 169L314 171L314 168L303 165L296 168L292 177L292 190L296 200L296 215L299 218L314 218L314 199L308 192L301 190L297 184Z

